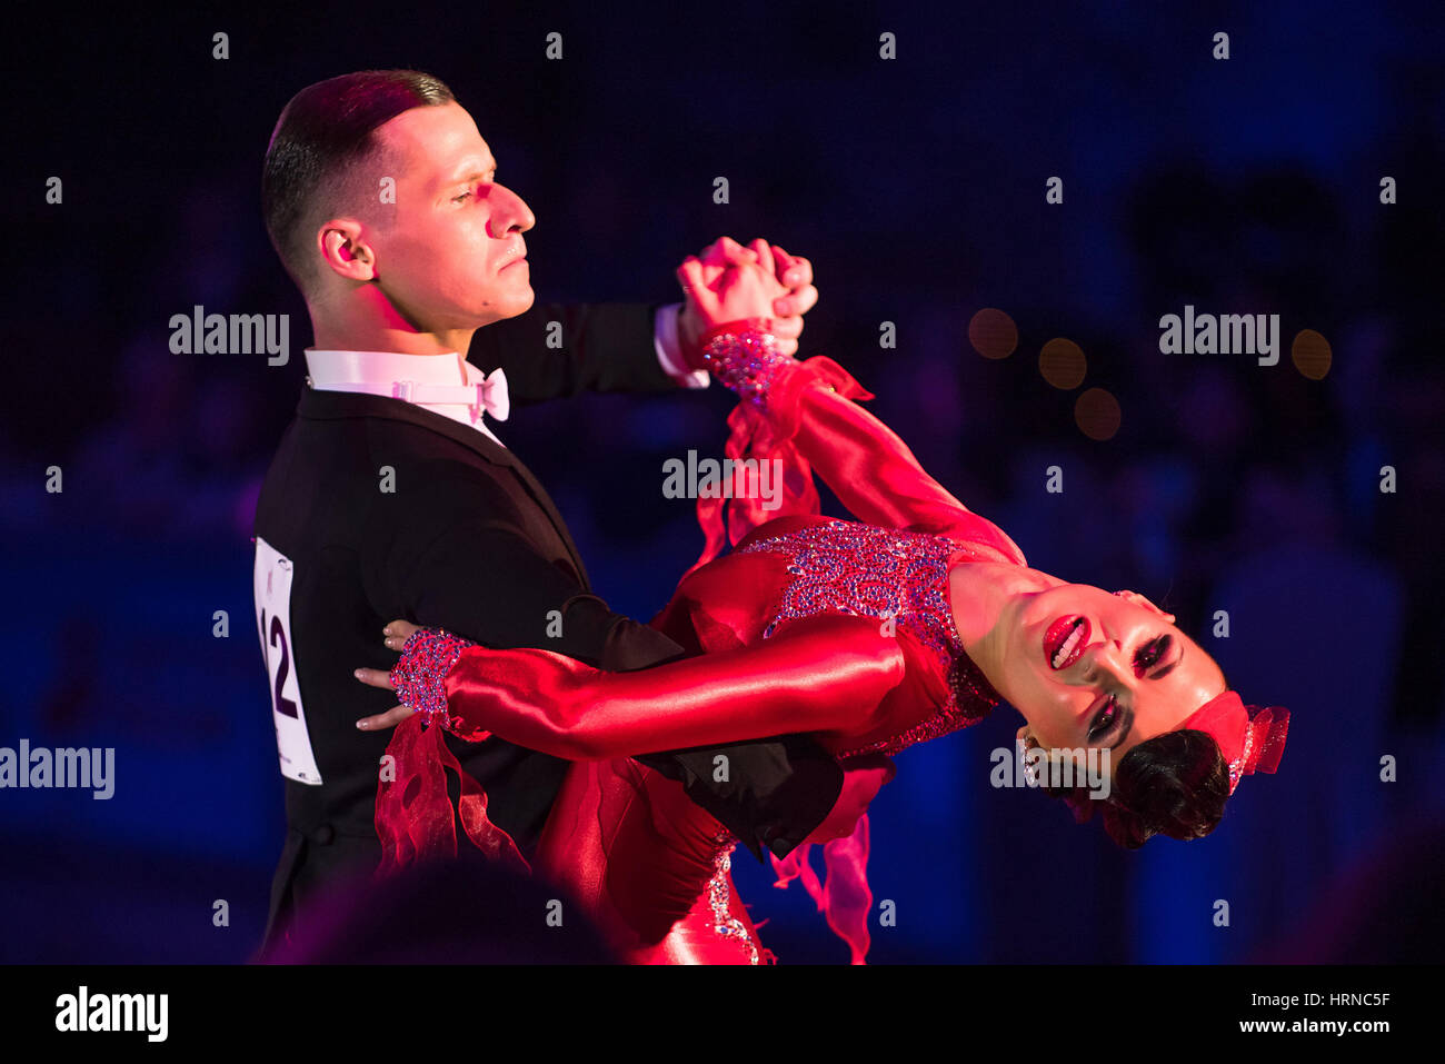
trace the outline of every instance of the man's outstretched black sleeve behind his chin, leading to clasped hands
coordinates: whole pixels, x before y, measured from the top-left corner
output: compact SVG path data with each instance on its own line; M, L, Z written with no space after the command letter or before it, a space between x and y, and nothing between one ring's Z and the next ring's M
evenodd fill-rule
M675 392L657 360L662 304L539 304L478 328L468 361L507 374L519 405L581 392Z

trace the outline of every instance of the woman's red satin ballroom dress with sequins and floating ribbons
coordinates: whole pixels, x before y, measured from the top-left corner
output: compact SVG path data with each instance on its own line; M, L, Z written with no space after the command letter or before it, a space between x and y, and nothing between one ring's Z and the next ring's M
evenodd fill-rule
M998 704L964 653L948 574L975 561L1025 565L1023 552L854 402L873 396L831 359L773 359L769 370L766 392L728 418L725 452L779 461L785 490L699 499L704 557L652 622L689 656L603 672L551 651L491 651L426 629L407 640L393 678L431 684L436 711L412 714L393 737L397 778L377 794L383 869L455 846L439 781L442 762L458 766L441 729L423 721L478 742L496 734L575 762L532 870L569 888L627 961L770 961L733 888L737 840L681 784L629 755L812 733L847 768L974 724ZM818 513L814 471L858 522ZM724 541L734 549L714 558ZM458 811L473 843L526 866L465 776ZM802 879L863 963L867 815L824 844L824 882L809 847L772 859L776 885Z

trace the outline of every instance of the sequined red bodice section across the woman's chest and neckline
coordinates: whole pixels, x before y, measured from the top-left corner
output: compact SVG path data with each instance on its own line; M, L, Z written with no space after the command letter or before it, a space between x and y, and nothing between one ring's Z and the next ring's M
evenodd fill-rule
M925 532L829 520L759 539L738 554L763 551L786 555L792 575L777 614L763 630L764 639L801 617L877 617L932 651L946 677L948 695L936 714L840 756L896 753L977 723L998 704L998 694L964 652L948 596L948 571L955 555L968 552L967 544Z

